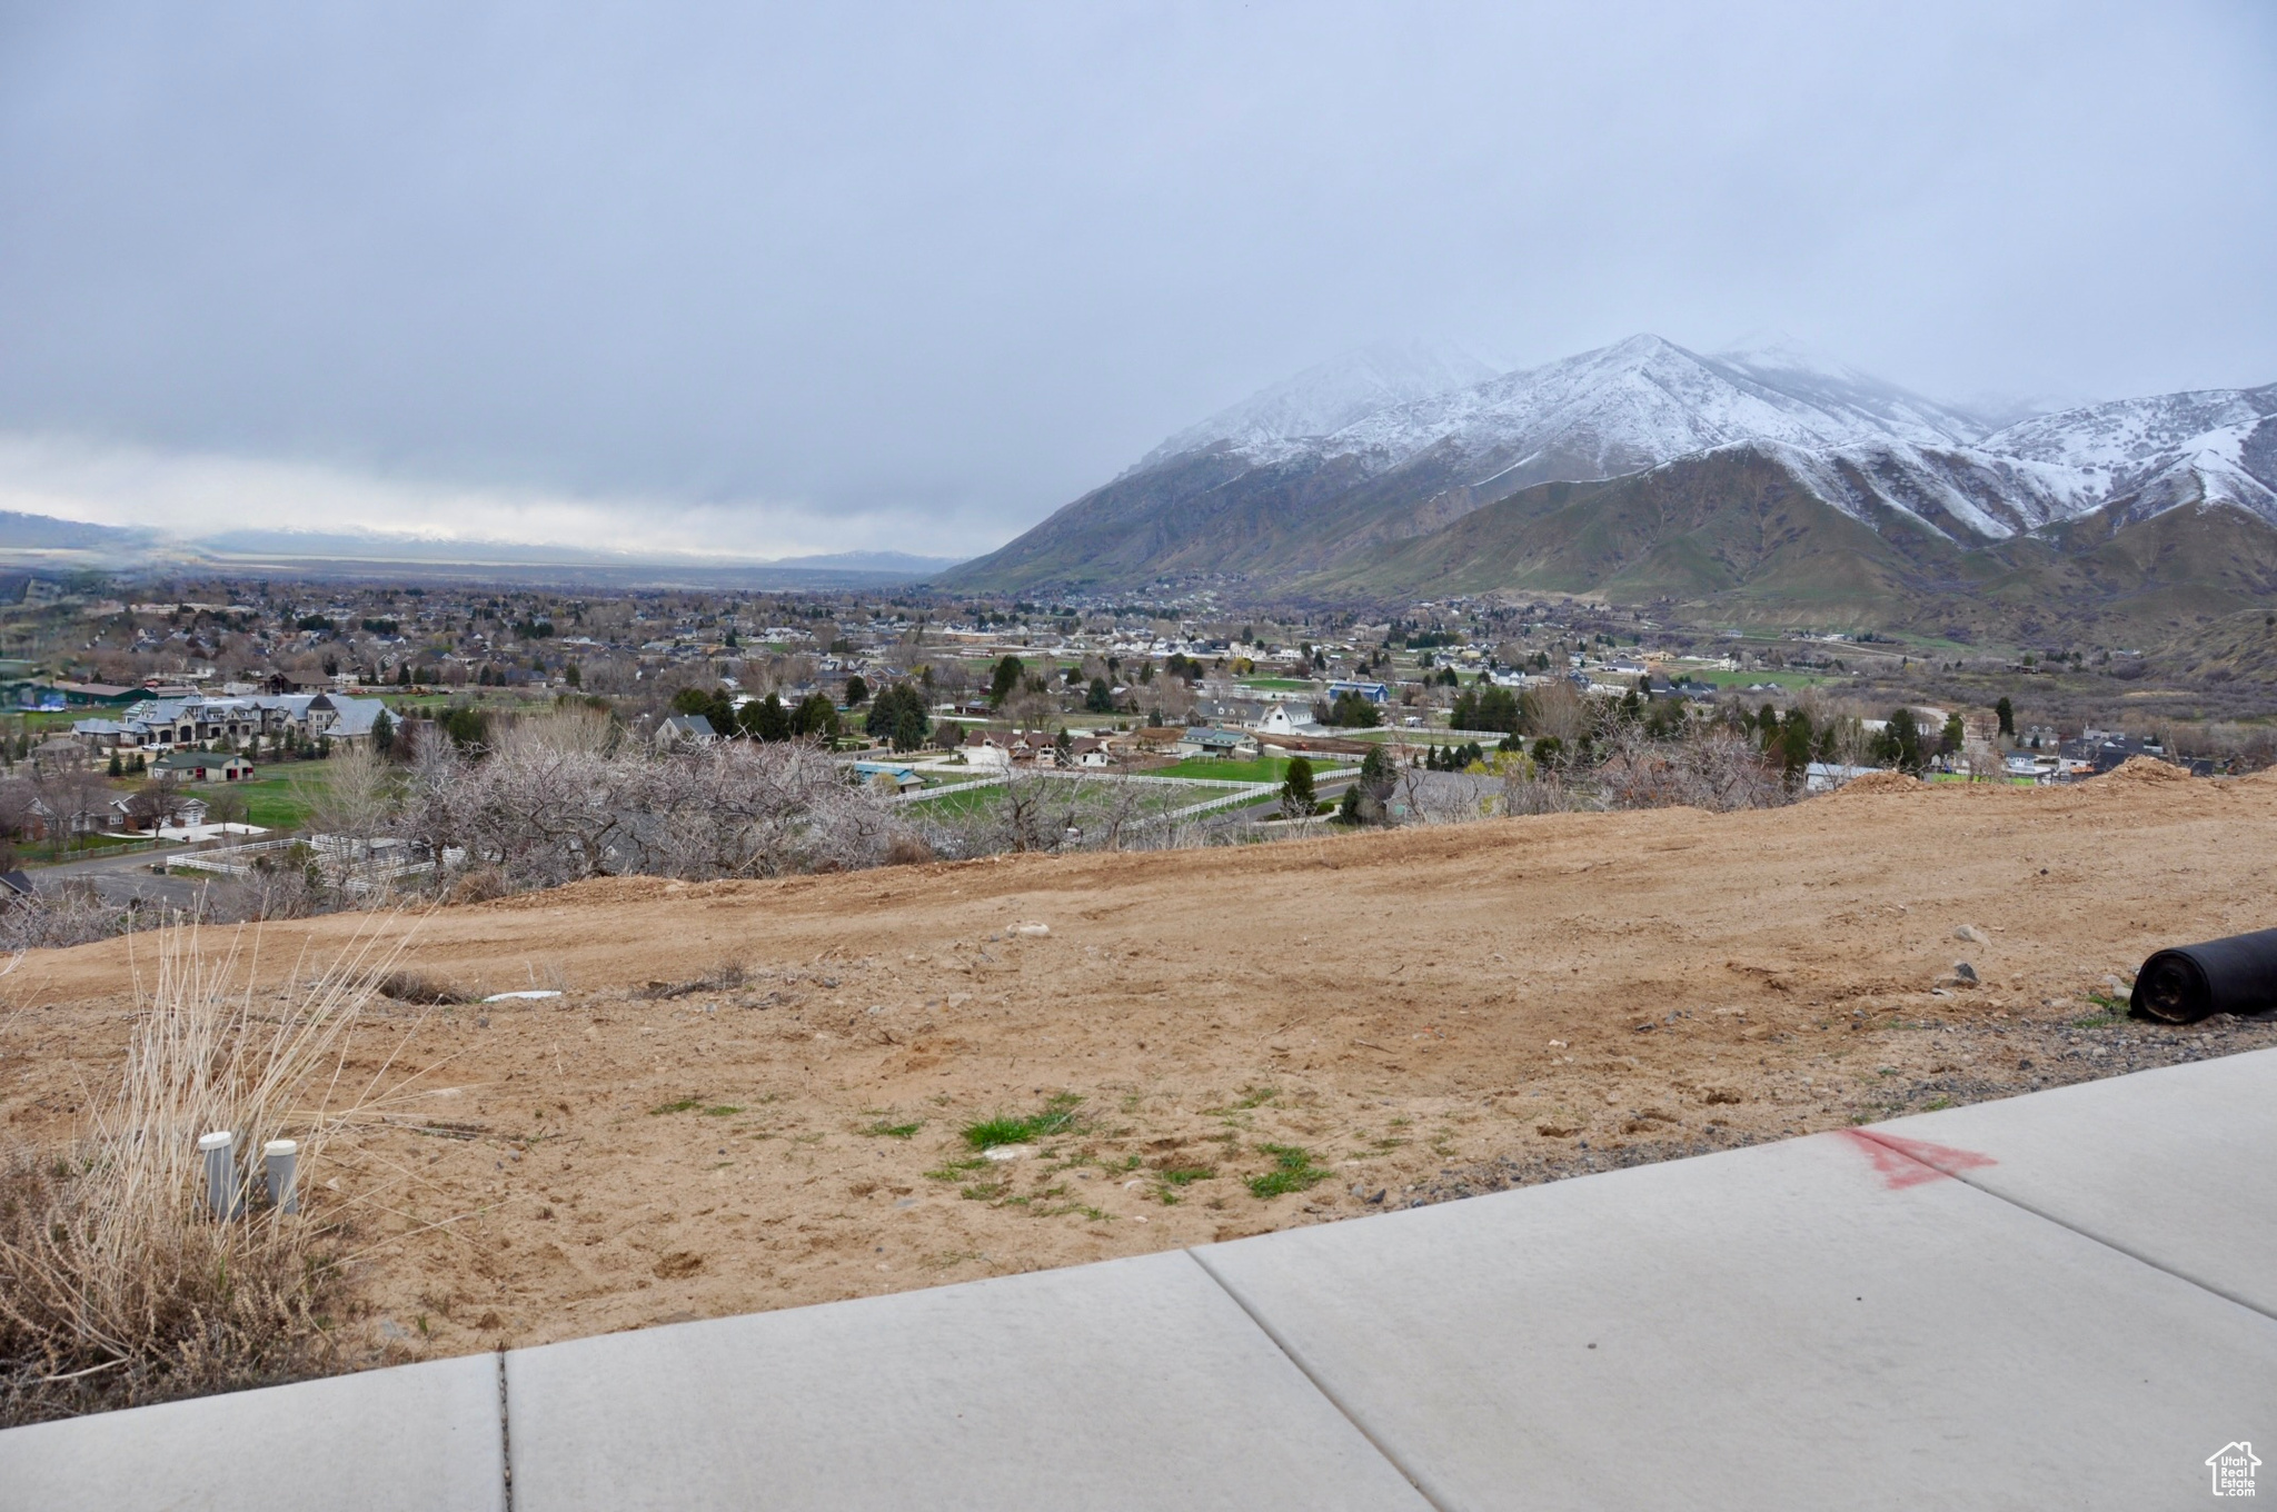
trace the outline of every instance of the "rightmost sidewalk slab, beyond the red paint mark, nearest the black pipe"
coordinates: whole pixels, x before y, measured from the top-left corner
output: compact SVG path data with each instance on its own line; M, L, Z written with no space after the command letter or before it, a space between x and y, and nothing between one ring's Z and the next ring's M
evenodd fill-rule
M1876 1134L2277 1316L2277 1050L1894 1118Z

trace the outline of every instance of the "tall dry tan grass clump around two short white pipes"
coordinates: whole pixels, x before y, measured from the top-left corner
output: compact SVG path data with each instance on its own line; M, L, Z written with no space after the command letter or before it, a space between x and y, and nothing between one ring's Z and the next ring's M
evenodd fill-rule
M346 1214L321 1161L376 1095L342 1070L387 956L367 934L291 1002L257 1004L235 945L164 938L93 1127L71 1150L0 1159L0 1423L337 1369ZM237 1134L235 1221L205 1211L196 1143L212 1129ZM298 1216L266 1207L271 1139L301 1145Z

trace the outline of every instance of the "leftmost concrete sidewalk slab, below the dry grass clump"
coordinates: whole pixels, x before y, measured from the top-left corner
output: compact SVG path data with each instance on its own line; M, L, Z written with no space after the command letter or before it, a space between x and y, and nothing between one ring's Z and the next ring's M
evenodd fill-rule
M0 1432L5 1512L494 1512L503 1471L496 1355Z

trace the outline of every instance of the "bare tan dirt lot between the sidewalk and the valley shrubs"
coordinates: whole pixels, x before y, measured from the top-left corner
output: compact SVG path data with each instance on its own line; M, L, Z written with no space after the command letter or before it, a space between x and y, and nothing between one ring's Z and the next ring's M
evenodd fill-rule
M2277 1043L2090 997L2277 922L2272 858L2277 781L2122 772L585 884L417 922L433 979L565 995L378 1004L355 1073L417 1075L312 1180L396 1355L1063 1266ZM271 925L264 981L360 927ZM150 954L0 984L9 1143L80 1127ZM961 1136L1052 1107L1016 1159Z

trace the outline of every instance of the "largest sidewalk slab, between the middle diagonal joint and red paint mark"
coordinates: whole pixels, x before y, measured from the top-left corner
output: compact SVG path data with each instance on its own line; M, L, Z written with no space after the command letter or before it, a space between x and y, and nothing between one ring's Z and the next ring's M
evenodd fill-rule
M1439 1507L2168 1507L2277 1321L1853 1134L1198 1250Z

